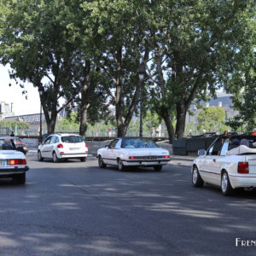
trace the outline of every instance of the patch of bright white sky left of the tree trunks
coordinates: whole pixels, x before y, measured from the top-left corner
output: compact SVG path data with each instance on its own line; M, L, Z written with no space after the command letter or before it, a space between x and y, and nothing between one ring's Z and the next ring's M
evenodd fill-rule
M19 84L15 83L14 79L9 79L8 66L3 67L0 65L0 102L11 103L13 102L13 108L15 115L39 113L40 112L40 100L38 89L34 88L32 84L26 84L25 90L27 90L27 100L25 95L22 95L22 90ZM12 84L9 86L9 84Z

